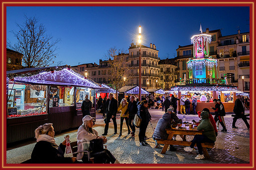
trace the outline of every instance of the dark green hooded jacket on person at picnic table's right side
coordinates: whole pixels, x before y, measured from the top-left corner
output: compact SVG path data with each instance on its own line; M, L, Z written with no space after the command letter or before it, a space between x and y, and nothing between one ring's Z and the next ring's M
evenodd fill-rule
M207 111L202 111L201 118L202 118L202 121L197 126L197 129L204 130L203 135L205 135L212 141L216 141L216 134L215 134L214 128L212 126L212 123L210 122L209 113Z

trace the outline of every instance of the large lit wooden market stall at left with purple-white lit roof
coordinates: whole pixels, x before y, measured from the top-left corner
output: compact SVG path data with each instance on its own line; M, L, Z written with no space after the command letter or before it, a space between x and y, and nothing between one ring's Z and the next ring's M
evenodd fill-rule
M100 88L67 65L7 71L7 143L34 137L35 128L46 122L56 132L81 125L77 101L88 94L95 103Z

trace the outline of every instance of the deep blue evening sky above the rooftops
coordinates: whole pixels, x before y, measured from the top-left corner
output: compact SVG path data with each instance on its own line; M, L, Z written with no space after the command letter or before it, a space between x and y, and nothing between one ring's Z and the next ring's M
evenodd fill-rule
M154 43L159 57L177 56L179 45L203 31L221 29L222 36L249 31L249 7L7 7L7 39L16 41L11 30L25 21L24 15L36 16L47 33L60 38L56 61L77 65L99 62L107 49L128 52L136 43L142 25L143 45Z

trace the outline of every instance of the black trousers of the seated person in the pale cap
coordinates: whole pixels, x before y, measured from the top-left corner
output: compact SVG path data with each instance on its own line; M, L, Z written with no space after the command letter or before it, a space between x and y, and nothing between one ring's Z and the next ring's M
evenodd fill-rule
M116 160L112 153L107 149L103 149L99 152L91 152L90 157L94 157L94 163L114 163ZM84 163L88 162L87 154L84 154L82 161Z

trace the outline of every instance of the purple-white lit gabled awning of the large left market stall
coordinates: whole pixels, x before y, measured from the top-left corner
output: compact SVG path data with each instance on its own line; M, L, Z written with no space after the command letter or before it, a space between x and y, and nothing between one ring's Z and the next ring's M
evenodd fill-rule
M95 89L104 88L100 87L93 80L85 78L81 73L67 65L7 71L7 78L15 82L27 84L81 86Z

